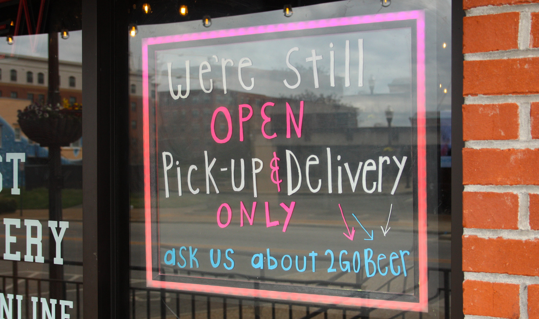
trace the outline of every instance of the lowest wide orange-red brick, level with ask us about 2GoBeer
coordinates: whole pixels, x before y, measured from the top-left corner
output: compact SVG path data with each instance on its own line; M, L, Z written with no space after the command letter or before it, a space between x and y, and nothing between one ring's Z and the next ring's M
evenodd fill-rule
M462 270L539 275L539 239L519 240L462 236Z

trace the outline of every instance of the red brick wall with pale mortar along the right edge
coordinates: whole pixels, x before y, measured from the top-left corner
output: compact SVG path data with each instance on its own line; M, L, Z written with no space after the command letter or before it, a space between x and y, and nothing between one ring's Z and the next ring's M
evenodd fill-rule
M468 318L539 319L539 0L464 0Z

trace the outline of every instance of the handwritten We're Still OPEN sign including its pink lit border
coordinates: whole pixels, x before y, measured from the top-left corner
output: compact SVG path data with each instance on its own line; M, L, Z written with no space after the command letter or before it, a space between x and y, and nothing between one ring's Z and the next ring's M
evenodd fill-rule
M406 11L143 39L147 285L425 311L424 31Z

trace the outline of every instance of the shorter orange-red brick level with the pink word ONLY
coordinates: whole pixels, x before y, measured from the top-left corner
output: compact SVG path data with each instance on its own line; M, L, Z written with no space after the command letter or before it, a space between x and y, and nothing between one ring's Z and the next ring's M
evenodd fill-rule
M514 193L462 193L462 226L519 229L519 196Z

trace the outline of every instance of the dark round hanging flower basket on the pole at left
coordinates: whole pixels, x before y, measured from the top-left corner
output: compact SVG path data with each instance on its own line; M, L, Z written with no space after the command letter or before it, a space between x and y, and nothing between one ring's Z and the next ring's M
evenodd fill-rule
M20 129L42 146L69 146L82 136L82 105L31 104L18 111Z

